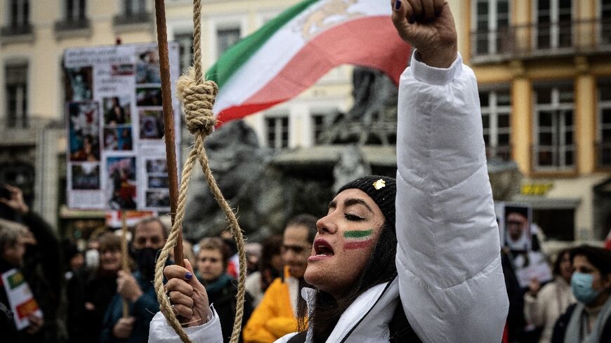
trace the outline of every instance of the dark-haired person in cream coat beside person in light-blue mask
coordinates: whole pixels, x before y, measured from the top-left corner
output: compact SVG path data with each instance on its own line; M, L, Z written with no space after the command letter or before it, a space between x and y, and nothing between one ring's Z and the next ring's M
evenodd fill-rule
M524 295L524 316L528 323L543 327L539 343L551 342L553 326L567 307L574 304L571 292L573 267L570 249L560 250L553 265L554 279L541 288L533 278Z

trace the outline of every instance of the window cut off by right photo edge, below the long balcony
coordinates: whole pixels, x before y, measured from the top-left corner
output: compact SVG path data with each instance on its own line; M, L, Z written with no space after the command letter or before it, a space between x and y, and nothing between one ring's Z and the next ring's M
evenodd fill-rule
M598 165L611 167L611 79L598 82Z

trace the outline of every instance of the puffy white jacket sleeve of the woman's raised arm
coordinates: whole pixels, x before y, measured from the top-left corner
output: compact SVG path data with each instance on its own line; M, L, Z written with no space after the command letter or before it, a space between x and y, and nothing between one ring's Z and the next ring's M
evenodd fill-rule
M508 311L478 86L412 56L399 86L396 264L400 297L425 343L495 343Z

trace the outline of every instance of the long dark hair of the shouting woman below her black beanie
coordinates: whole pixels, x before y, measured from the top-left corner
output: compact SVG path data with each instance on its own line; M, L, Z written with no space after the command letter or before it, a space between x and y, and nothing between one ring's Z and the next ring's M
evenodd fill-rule
M327 340L339 317L364 291L385 283L397 274L395 255L397 254L397 233L395 227L382 225L380 236L374 251L364 269L362 269L353 288L341 299L334 299L329 293L317 290L316 302L312 315L308 318L308 309L305 301L298 302L298 331L313 329L313 343L322 343ZM307 322L307 323L306 323Z

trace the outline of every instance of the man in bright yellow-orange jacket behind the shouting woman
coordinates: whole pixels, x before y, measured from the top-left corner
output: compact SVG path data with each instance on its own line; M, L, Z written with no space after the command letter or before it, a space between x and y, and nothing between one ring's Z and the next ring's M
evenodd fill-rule
M297 330L297 304L303 301L303 274L317 232L316 221L313 215L301 214L287 223L282 237L284 277L275 279L265 291L244 327L245 343L270 343Z

